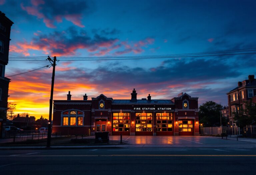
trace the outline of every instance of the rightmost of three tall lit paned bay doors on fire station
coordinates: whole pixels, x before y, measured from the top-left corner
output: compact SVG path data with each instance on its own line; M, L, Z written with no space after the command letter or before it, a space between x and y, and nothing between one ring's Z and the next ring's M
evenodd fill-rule
M156 113L156 131L172 131L172 113Z

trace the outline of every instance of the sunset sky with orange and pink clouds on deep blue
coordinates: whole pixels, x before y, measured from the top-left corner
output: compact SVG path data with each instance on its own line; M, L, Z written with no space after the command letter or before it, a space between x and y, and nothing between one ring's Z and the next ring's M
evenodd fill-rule
M256 75L254 54L141 60L63 61L60 57L170 55L256 48L256 1L0 0L14 24L9 57L56 56L54 100L171 99L227 105L226 93ZM29 58L24 58L29 60ZM49 61L9 60L5 76ZM13 76L15 114L49 116L52 67Z

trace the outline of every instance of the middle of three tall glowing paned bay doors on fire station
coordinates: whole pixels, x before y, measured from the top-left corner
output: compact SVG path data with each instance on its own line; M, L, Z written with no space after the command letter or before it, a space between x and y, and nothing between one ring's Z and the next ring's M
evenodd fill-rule
M152 131L153 128L152 113L136 113L135 131Z

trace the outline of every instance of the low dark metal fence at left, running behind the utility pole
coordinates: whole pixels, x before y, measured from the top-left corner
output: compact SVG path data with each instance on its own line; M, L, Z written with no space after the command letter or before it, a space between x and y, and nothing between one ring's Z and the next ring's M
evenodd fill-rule
M21 142L26 140L45 139L48 131L6 131L5 138L11 139L13 142ZM61 137L61 132L52 133L52 137Z

